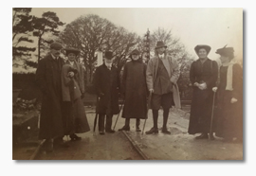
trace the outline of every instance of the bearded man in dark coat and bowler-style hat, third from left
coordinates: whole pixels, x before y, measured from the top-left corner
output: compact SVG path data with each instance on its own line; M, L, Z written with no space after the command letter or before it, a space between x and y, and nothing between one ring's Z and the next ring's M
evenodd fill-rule
M99 132L113 133L111 129L113 114L119 114L119 72L112 64L113 53L106 51L104 63L96 69L94 86L98 102L96 113L99 114ZM106 123L105 123L106 116Z

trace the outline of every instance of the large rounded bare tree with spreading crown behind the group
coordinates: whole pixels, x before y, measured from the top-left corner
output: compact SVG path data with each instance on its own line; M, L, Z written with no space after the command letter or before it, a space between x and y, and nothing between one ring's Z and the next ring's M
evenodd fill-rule
M90 84L97 60L96 51L112 50L116 57L115 63L119 67L120 61L137 42L137 35L98 15L89 14L68 24L61 33L60 40L66 46L81 50L87 84Z

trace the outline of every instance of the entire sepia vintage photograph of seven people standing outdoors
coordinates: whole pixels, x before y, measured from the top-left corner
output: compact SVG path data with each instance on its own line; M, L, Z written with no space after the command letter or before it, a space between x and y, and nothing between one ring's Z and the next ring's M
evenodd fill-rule
M244 160L242 8L12 8L12 160Z

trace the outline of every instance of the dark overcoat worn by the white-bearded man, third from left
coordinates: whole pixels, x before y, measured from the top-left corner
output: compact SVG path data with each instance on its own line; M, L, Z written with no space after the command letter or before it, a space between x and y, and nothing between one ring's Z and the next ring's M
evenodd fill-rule
M112 65L111 70L103 63L96 68L94 87L97 92L97 107L96 113L106 114L107 108L110 107L111 114L119 114L119 72Z

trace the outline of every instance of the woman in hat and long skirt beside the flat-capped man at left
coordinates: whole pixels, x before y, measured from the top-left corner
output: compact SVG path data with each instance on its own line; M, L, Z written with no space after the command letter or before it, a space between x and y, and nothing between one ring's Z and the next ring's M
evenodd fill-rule
M89 132L87 117L82 102L84 94L82 65L76 62L79 50L66 48L68 60L62 69L62 88L64 101L64 134L71 140L81 140L75 133Z

